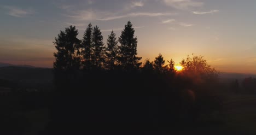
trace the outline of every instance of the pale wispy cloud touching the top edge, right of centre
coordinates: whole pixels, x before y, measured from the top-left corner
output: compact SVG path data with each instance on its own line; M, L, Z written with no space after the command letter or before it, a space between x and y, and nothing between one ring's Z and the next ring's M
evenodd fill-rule
M193 0L162 0L166 5L176 9L187 10L190 7L201 7L203 2L194 2Z

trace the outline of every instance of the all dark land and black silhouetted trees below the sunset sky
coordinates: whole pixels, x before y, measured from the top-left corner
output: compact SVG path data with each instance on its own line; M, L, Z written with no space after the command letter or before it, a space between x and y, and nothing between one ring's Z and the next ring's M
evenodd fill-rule
M53 70L0 68L1 134L256 133L236 125L255 118L255 79L220 80L194 54L182 71L161 54L142 64L134 32L129 21L104 46L97 26L82 40L70 26L55 38Z

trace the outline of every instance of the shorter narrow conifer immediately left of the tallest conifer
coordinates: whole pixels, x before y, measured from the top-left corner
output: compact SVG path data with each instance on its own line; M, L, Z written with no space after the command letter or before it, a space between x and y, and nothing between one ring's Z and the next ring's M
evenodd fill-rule
M113 70L117 64L118 41L115 36L116 34L112 30L107 39L106 67L110 70Z

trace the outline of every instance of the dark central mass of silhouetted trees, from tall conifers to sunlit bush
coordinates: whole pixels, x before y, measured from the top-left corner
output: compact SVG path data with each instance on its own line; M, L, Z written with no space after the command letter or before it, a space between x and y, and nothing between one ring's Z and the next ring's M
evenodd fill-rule
M218 72L202 56L187 57L174 70L159 54L144 63L130 21L106 45L98 26L83 39L69 26L55 38L54 85L49 133L143 134L192 127L201 114L221 109ZM173 131L174 132L174 131Z

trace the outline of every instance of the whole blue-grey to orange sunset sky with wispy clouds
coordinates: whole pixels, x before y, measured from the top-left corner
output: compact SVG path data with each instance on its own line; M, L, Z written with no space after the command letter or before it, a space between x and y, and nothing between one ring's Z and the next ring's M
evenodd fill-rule
M53 67L53 41L76 26L101 29L104 43L111 30L120 36L131 21L142 62L159 53L179 63L202 55L220 72L256 74L255 0L2 0L0 62Z

